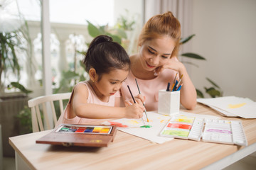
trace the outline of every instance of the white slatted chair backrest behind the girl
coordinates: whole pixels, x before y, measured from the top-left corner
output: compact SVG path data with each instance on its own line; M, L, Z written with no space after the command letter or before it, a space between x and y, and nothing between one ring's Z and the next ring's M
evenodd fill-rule
M50 130L52 129L51 125L55 125L57 123L57 116L55 112L55 106L53 101L58 101L60 104L60 115L63 113L63 100L69 99L71 93L65 94L51 94L48 96L39 96L36 98L32 98L28 101L28 107L31 108L31 119L32 119L32 129L33 132L39 132L42 130ZM46 103L50 103L51 115L48 113L46 108ZM43 125L41 118L40 107L43 108ZM48 116L50 115L50 116ZM53 124L52 124L53 123ZM45 129L46 128L46 129Z

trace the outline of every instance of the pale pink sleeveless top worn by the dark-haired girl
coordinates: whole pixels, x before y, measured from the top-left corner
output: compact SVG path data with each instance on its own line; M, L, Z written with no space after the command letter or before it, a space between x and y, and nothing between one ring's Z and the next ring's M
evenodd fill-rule
M108 102L103 102L103 101L100 101L100 99L95 94L95 91L93 91L92 86L90 86L90 84L87 81L80 81L78 84L84 84L85 88L88 89L87 103L94 103L94 104L99 104L99 105L103 105L103 106L114 106L114 98L120 96L120 94L117 92L113 96L110 96L110 100ZM73 98L73 94L74 94L74 89L72 91L72 94L70 96L68 104L67 104L63 114L60 115L60 118L58 119L58 122L56 123L55 127L57 127L61 123L85 124L85 123L90 123L92 121L97 120L97 119L80 118L78 116L75 116L75 118L71 118L71 119L69 118L68 115L70 112L70 105L71 105L71 101Z

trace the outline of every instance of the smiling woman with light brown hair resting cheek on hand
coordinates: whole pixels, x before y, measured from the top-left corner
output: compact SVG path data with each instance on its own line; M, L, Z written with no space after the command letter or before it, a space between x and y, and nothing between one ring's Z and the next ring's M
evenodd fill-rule
M153 16L146 22L139 35L139 52L130 57L131 72L121 88L125 103L132 101L127 84L132 91L138 91L136 78L141 94L146 97L146 111L157 111L159 90L166 89L178 72L177 77L183 75L181 104L187 109L196 106L196 89L186 67L177 58L180 39L181 26L171 12Z

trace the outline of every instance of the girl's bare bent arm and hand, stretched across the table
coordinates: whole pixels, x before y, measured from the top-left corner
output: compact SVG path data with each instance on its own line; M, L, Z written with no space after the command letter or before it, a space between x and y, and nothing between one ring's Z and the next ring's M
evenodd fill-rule
M72 110L80 118L142 118L144 107L138 103L125 108L87 103L88 89L83 84L74 88Z

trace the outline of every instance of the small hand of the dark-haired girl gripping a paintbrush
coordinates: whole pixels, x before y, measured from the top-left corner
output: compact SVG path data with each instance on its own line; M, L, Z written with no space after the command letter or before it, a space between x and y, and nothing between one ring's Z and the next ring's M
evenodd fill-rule
M144 106L139 103L127 106L125 108L125 118L142 118L144 110Z

